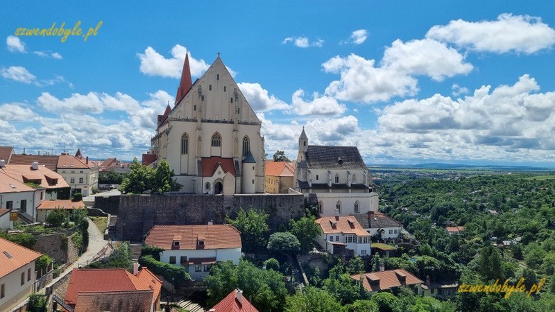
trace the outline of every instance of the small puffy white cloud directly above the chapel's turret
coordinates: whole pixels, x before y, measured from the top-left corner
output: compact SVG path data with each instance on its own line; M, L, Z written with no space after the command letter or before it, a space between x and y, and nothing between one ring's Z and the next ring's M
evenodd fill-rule
M298 89L291 96L292 110L298 115L340 115L347 110L331 96L320 96L317 92L312 94L312 101L305 101L305 91Z

